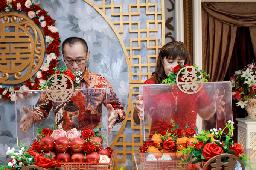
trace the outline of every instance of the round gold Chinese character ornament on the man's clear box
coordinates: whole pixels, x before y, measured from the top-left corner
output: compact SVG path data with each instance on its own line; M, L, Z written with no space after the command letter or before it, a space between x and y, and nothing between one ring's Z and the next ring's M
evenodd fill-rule
M66 89L68 83L71 84L70 89ZM45 91L50 100L61 103L71 98L74 92L74 84L69 76L65 74L55 74L47 80Z

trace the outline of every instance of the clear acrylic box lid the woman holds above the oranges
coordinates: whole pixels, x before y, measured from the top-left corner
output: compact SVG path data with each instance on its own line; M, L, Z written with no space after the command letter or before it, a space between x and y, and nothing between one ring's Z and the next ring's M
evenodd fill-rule
M182 92L177 84L143 84L139 90L143 96L144 117L140 124L144 141L150 140L155 132L165 135L166 130L172 128L171 120L175 124L179 123L183 130L186 125L190 128L197 126L199 132L204 129L223 129L232 120L230 81L204 83L200 91L194 94ZM219 100L216 99L222 95L224 111L220 113L217 109L212 113L215 110L210 110L210 107L220 108Z

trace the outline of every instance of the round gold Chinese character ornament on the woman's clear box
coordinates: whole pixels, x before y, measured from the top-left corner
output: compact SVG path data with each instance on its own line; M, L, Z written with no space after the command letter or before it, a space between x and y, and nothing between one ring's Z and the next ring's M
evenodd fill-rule
M198 73L200 74L201 78L197 76ZM180 76L182 81L179 81ZM180 69L180 71L177 73L176 83L182 92L187 94L194 94L203 87L203 74L196 67L186 66Z

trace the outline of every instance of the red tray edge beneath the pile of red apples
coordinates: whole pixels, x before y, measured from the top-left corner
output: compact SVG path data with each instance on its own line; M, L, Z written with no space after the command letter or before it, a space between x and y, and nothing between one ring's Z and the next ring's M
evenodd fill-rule
M104 170L104 167L97 166L97 165L107 165L108 170L113 170L114 166L114 158L115 158L115 152L114 150L111 150L111 157L109 163L75 163L75 162L59 162L62 166L69 166L72 170ZM92 166L90 168L90 165ZM72 168L73 167L73 168ZM69 169L69 168L67 168Z

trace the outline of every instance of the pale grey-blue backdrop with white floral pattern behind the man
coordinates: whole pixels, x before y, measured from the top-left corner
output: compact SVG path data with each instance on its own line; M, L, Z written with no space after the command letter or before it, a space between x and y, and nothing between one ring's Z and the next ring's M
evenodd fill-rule
M99 1L90 1L96 5L98 5L97 3L100 3ZM166 1L171 2L171 0ZM88 70L108 79L126 111L129 93L128 66L121 44L107 21L105 21L93 7L83 0L33 0L32 2L40 4L42 9L49 11L49 15L56 20L55 26L58 28L62 42L71 36L85 39L91 52L87 62ZM123 12L128 10L128 4L136 2L137 0L115 1L116 4L123 4L124 7L127 7L123 9ZM156 2L158 3L158 8L161 8L160 1L149 0L149 3ZM106 0L105 3L110 3L110 0ZM141 10L145 11L145 8ZM117 20L117 18L111 17L111 9L106 9L106 15L111 21ZM141 12L141 15L136 17L136 20L140 20L141 22L140 27L146 27L146 20L151 20L150 16L145 15L145 12ZM174 22L175 21L172 21L172 24ZM116 29L120 30L118 27L116 27ZM124 27L123 33L120 35L126 47L129 46L129 39L136 37L133 33L129 33L128 26ZM155 35L153 36L158 37L160 43L162 42L161 31L155 32ZM146 50L146 45L142 44L141 50L136 51L133 55L147 56L151 53L150 50ZM62 54L58 59L60 59L59 67L62 68L62 66L65 65L62 59ZM144 59L146 60L146 57L144 57ZM136 70L134 70L134 72L136 72ZM4 84L3 87L9 88L12 86ZM126 116L128 116L128 114L126 114ZM50 120L54 120L53 114L50 114L49 119L40 122L37 126L50 127L53 125L53 121ZM117 135L121 125L122 123L119 123L114 126L113 132L110 135L110 144ZM107 125L103 126L107 127ZM126 123L125 133L129 133L130 135L134 134L134 132L131 131L131 123ZM3 101L2 98L0 99L0 165L6 164L10 159L9 157L6 157L7 147L13 147L15 145L15 103L10 100ZM129 165L132 166L132 159L129 159L130 160L126 160L126 162L118 163L118 165L127 166L129 163Z

